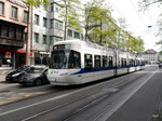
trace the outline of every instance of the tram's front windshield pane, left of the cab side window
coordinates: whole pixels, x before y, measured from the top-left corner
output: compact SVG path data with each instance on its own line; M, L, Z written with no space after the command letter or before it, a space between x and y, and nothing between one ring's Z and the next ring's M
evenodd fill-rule
M67 69L67 58L69 52L66 51L53 51L51 55L50 68L53 69Z

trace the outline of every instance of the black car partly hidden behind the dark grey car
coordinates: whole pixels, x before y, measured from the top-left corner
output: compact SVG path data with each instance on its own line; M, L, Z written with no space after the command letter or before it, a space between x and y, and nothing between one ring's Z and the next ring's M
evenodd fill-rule
M28 71L30 66L23 66L10 72L5 77L6 82L18 82L18 78Z

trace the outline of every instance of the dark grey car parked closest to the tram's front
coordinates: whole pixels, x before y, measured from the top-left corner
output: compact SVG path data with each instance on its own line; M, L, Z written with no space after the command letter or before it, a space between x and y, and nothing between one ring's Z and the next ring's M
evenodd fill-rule
M50 82L45 75L46 71L48 71L48 69L45 66L32 66L25 75L23 75L18 79L18 83L23 84L23 85L49 84Z

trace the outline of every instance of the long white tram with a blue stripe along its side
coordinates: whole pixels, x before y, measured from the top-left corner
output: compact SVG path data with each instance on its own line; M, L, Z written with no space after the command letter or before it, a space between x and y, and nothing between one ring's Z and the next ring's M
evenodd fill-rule
M139 70L141 64L133 54L92 42L67 40L54 44L46 76L56 85L82 84Z

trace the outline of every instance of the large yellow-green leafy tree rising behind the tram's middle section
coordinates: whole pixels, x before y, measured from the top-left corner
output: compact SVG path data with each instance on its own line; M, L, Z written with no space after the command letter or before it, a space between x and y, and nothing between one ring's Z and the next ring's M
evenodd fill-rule
M111 17L110 6L105 3L105 0L86 3L85 40L89 35L92 41L98 44L106 42L110 45L112 40L116 40L117 28L116 21ZM89 31L91 33L87 33Z

